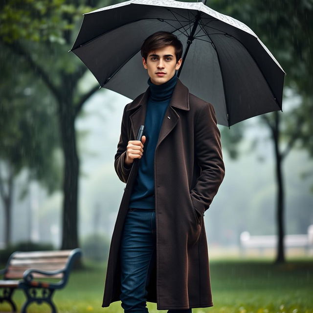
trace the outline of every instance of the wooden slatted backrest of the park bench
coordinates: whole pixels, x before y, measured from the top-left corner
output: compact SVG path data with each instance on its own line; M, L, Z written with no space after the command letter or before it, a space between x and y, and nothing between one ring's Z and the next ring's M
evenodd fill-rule
M41 270L57 270L63 268L70 268L71 259L74 254L80 249L73 250L52 250L52 251L16 251L11 254L4 279L20 279L23 273L28 268L35 268ZM76 252L76 253L75 253ZM34 273L34 278L47 278L47 276L40 273ZM63 273L50 275L49 278L63 278Z

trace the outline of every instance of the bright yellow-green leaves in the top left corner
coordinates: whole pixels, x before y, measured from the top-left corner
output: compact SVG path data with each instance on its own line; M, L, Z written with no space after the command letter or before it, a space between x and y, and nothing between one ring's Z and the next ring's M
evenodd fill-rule
M66 44L64 32L74 28L91 7L66 0L10 0L1 8L0 37L7 43L31 42ZM69 18L66 18L69 17Z

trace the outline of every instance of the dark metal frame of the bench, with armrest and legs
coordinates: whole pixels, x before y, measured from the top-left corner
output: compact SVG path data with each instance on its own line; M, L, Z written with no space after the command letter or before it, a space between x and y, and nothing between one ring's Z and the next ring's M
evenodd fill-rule
M21 313L26 313L27 307L33 302L37 302L38 304L45 302L50 306L51 313L57 313L56 306L52 301L52 295L56 289L62 289L66 286L73 262L76 258L82 255L82 250L80 248L73 249L67 257L66 266L62 269L46 271L36 268L28 268L24 271L22 280L18 281L18 283L13 283L12 280L5 278L5 274L8 272L8 268L11 260L14 258L14 254L18 252L27 253L24 251L13 252L7 261L6 268L0 270L0 275L4 275L4 280L0 280L0 290L2 290L3 293L3 295L0 294L0 303L4 301L8 302L12 307L12 312L17 312L12 296L16 289L22 289L26 296L26 301L22 305ZM53 250L51 252L53 252ZM43 274L47 277L62 273L63 277L57 283L42 282L34 280L33 273ZM12 283L10 284L10 282Z

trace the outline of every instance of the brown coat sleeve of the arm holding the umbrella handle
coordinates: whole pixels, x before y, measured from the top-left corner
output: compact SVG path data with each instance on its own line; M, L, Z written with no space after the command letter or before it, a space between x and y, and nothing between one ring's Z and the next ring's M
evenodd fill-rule
M118 176L118 178L123 181L127 182L129 173L131 172L132 166L134 163L132 163L130 166L127 166L124 161L126 157L126 150L128 145L128 132L127 132L127 126L126 126L126 107L124 108L123 117L122 117L122 124L121 124L121 134L119 137L119 142L117 144L117 152L114 156L114 168L115 172Z

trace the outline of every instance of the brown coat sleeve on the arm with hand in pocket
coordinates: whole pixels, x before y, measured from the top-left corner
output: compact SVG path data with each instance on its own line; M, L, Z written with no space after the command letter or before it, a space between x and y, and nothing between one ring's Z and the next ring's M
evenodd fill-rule
M214 107L206 103L199 110L195 125L195 156L201 173L190 191L194 208L203 215L224 179L221 134L217 127Z

